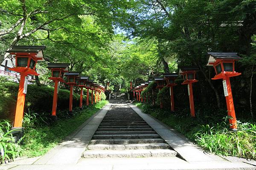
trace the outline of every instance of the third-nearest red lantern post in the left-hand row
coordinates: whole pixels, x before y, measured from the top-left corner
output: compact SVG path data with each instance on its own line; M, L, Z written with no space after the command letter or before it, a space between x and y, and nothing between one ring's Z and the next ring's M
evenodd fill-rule
M70 85L70 103L69 103L69 112L72 113L73 107L73 86L76 85L76 79L80 78L80 72L68 72L65 73L65 76L68 78L67 84Z

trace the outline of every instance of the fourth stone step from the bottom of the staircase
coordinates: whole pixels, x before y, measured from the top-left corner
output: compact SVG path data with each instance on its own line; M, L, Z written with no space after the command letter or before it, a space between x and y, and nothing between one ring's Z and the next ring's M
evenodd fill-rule
M158 134L131 134L131 135L93 135L93 139L152 139L160 138Z

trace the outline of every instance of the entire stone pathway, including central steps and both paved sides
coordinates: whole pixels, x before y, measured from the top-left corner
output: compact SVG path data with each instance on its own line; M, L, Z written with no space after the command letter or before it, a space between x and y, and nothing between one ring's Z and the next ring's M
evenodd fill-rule
M112 102L46 155L0 170L256 170L255 161L205 153L136 106Z

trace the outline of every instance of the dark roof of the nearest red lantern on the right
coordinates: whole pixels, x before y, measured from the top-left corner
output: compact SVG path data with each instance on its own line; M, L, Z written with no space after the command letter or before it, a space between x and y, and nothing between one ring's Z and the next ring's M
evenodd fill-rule
M217 64L219 60L224 60L224 61L236 61L239 59L242 59L237 55L237 53L226 53L226 52L208 52L209 57L208 57L208 63L207 66L213 66Z

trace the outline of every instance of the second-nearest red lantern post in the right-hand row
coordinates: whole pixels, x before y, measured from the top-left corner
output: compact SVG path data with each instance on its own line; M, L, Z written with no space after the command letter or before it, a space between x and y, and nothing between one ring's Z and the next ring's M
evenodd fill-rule
M182 85L188 85L188 93L189 93L189 106L190 106L190 114L192 117L195 117L195 106L194 106L194 96L193 96L193 87L192 83L198 82L195 79L195 73L199 70L197 66L184 66L180 67L180 75L183 76L184 82Z

